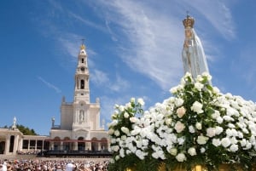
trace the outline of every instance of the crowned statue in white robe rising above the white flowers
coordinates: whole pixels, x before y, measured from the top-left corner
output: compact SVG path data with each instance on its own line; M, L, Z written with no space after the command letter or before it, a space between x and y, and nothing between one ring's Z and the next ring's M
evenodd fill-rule
M184 73L190 72L193 78L201 75L203 72L208 72L207 59L204 49L201 45L201 40L197 37L193 28L195 20L187 15L183 20L185 27L185 40L183 44L183 69Z

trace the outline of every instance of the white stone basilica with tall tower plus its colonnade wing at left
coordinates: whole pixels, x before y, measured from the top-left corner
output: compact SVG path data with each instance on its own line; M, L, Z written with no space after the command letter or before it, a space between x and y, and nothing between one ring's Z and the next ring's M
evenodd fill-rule
M52 124L49 136L24 135L16 128L0 128L0 154L32 151L107 151L108 132L100 121L100 100L90 102L89 69L84 43L80 46L75 71L73 102L61 100L61 123Z

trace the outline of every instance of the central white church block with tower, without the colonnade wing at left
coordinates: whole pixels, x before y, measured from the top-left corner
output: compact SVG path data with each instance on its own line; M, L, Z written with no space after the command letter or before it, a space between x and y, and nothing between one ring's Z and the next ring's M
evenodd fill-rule
M50 129L52 149L97 151L108 148L108 133L100 127L100 100L90 103L89 76L87 54L82 44L75 72L73 102L66 102L63 97L61 124L55 125L53 120Z

